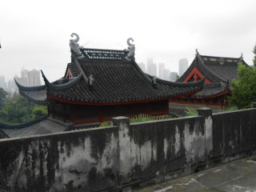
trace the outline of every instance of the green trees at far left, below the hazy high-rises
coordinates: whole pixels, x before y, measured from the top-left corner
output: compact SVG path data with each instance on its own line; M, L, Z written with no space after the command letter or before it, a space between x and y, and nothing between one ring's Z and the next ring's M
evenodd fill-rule
M16 102L6 102L0 110L0 121L6 123L30 122L47 114L46 106L37 106L19 96Z

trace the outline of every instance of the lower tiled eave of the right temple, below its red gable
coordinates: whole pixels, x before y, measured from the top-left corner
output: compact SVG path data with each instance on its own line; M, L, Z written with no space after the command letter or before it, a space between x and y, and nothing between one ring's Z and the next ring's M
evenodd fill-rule
M190 96L190 98L207 98L214 97L219 94L230 93L229 86L222 82L205 83L202 90Z

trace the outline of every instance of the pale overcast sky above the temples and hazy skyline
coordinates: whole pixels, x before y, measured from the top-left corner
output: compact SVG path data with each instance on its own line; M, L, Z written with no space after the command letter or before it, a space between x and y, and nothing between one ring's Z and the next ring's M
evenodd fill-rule
M70 34L80 46L118 49L134 38L135 60L165 62L203 55L238 58L252 65L256 1L0 1L0 75L43 70L61 78L70 62Z

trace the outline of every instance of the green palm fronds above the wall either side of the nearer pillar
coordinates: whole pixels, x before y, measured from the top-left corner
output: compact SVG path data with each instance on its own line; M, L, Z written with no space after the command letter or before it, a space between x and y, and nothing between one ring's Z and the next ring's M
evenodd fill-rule
M158 117L153 117L150 114L138 114L138 115L130 118L130 123L157 121L157 120L163 120L163 119L169 119L169 118L176 118L176 116L175 115L162 115L162 116L158 116ZM102 126L111 126L111 122L102 122L102 124L99 127L102 127Z

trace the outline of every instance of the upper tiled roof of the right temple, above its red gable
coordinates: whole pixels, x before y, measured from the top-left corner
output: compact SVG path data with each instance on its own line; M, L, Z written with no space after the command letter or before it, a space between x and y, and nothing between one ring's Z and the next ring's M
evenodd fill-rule
M196 54L194 61L177 82L184 82L191 71L196 67L210 82L228 82L231 87L233 79L238 79L238 62L242 62L248 66L246 62L240 58L222 58Z

